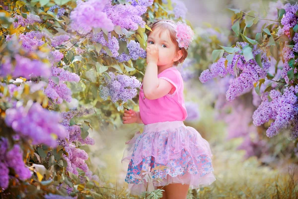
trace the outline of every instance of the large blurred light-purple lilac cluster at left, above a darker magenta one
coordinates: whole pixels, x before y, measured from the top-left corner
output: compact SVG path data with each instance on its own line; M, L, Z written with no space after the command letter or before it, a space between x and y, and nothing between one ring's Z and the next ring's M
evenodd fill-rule
M33 103L29 110L25 107L12 107L5 111L7 126L21 135L32 140L32 144L46 144L51 147L57 145L51 134L64 138L66 130L59 124L61 115L55 111L44 109L39 103Z

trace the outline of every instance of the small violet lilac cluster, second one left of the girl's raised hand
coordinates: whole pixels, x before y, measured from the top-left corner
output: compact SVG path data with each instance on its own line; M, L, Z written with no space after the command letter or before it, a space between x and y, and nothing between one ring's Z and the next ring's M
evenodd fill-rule
M92 36L92 41L98 42L98 43L102 44L103 46L107 46L112 52L112 57L117 57L119 55L118 50L120 48L118 39L116 37L112 37L112 34L109 33L108 34L108 40L109 41L106 41L104 39L103 34L104 33L102 31L99 32L99 33L94 34ZM107 54L107 52L104 49L101 49L100 52Z

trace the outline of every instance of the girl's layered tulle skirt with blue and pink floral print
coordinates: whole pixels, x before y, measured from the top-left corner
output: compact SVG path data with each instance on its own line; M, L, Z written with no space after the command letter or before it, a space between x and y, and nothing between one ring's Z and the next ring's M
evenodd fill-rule
M125 181L133 195L168 184L196 189L216 181L209 143L183 121L147 124L126 144L121 162L129 162Z

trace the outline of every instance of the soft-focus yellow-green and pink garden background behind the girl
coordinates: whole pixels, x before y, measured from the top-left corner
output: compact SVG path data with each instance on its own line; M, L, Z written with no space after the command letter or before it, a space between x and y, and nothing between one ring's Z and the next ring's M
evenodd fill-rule
M196 128L210 143L217 178L210 187L190 190L189 198L274 198L281 190L292 197L289 193L293 192L298 177L297 142L290 141L287 132L269 139L266 127L270 124L260 127L252 124L252 114L260 103L256 102L260 99L254 91L228 102L225 99L228 77L206 84L199 81L200 73L212 63L212 51L220 49L219 45L231 46L237 40L231 32L233 12L228 8L255 10L260 17L276 19L276 8L282 2L285 1L184 0L186 19L196 33L188 59L179 66L185 81L184 97L189 115L185 124ZM257 31L263 23L260 21L261 25L255 25L250 31ZM275 64L272 60L272 65ZM139 110L137 105L134 109ZM122 125L121 117L116 121L117 129L111 127L91 134L96 144L90 147L90 159L91 164L103 171L101 179L120 194L127 189L124 179L128 163L121 163L125 142L136 131L142 132L143 125Z

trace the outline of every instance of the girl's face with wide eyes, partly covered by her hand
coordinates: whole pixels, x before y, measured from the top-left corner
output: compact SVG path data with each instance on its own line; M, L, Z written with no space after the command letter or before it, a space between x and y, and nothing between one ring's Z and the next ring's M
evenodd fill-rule
M172 42L168 30L153 30L147 40L147 46L149 45L155 45L158 48L157 66L173 65L182 56L181 50L177 51L177 46Z

